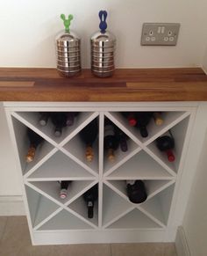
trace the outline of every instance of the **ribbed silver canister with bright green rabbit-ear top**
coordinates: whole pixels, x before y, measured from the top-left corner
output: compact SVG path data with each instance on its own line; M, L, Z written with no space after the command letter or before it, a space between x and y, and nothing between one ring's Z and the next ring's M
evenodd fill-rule
M82 69L81 65L81 39L69 29L73 16L68 15L68 19L61 14L65 30L58 33L55 38L56 60L58 72L63 77L74 77Z

